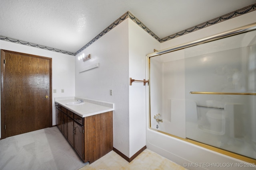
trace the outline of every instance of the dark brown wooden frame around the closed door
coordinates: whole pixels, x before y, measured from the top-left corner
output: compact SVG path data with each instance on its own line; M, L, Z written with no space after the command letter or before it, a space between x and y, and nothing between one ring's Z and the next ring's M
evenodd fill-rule
M0 88L1 88L1 138L0 139L4 139L6 138L6 134L5 134L5 53L13 53L13 54L17 54L17 55L26 55L26 56L30 56L30 57L35 57L35 58L40 58L40 59L46 59L49 60L49 64L50 64L50 68L49 68L49 72L50 72L50 96L49 96L49 100L50 100L50 122L49 122L49 127L52 127L52 58L49 57L43 57L43 56L39 56L39 55L32 55L32 54L26 54L26 53L20 53L20 52L16 52L16 51L8 51L8 50L4 50L1 49L1 60L0 60L0 65L1 65L1 75L0 75Z

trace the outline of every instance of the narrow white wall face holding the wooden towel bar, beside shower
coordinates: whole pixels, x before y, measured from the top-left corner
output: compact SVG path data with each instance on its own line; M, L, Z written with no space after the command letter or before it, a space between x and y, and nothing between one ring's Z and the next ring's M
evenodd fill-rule
M160 43L129 19L129 77L147 79L146 54L160 48ZM146 87L143 82L129 86L130 157L146 146Z

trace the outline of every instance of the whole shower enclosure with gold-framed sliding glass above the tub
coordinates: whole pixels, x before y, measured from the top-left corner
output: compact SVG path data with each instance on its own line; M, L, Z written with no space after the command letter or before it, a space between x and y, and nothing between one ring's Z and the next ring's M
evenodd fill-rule
M149 57L150 128L255 162L254 29Z

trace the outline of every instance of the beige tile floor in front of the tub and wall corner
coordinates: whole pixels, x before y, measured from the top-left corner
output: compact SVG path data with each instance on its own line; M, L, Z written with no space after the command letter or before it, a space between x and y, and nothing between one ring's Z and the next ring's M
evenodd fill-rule
M127 162L113 150L80 170L186 170L184 167L145 149L132 162Z

